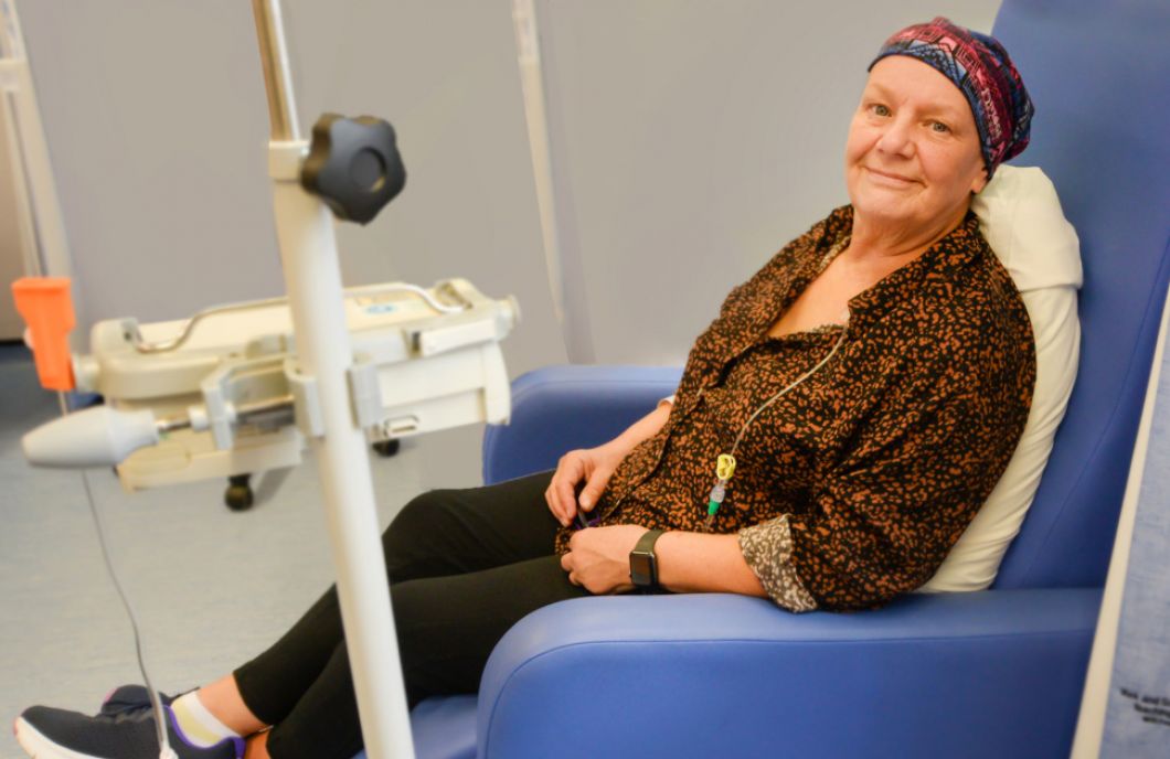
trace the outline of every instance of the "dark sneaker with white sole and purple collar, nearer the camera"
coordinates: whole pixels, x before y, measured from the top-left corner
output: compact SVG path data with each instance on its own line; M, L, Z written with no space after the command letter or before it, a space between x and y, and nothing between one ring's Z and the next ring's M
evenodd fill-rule
M191 745L176 724L170 706L166 732L179 759L241 759L242 738L225 738L214 746ZM34 759L157 759L158 734L150 708L87 717L76 711L30 706L16 718L16 740Z

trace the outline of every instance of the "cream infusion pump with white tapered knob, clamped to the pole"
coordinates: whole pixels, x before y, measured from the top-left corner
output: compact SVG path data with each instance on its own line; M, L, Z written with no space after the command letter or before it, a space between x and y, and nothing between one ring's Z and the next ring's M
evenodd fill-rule
M370 442L510 414L500 340L519 320L511 297L466 280L345 291L355 423ZM292 467L322 434L316 380L301 373L283 298L209 309L187 320L95 324L73 357L76 389L104 406L25 436L33 463L110 464L128 489Z

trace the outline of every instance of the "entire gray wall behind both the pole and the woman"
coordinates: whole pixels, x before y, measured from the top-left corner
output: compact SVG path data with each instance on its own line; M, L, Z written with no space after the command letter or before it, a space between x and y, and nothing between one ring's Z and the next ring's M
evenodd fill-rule
M723 295L845 202L865 68L904 23L990 29L998 0L543 0L558 216L600 361L679 363ZM89 319L282 289L245 0L22 2ZM509 0L285 0L301 120L374 113L410 180L343 226L349 283L515 294L515 375L565 359Z

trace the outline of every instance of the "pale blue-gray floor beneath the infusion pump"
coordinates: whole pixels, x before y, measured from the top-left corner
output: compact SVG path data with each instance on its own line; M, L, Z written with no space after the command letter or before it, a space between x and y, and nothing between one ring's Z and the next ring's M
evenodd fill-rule
M27 351L0 345L0 716L8 719L36 703L92 712L115 685L142 681L82 475L33 469L20 454L20 436L57 413ZM383 526L425 489L479 484L481 434L439 433L376 456ZM255 483L260 503L239 513L223 506L220 481L130 495L110 470L88 476L164 691L257 654L331 582L311 460L273 494ZM11 733L0 757L23 757Z

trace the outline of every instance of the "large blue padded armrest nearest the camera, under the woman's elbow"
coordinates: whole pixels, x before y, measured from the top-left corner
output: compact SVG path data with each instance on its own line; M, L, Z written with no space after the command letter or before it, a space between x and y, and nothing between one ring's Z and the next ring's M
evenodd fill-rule
M1099 588L911 595L855 614L605 596L500 642L482 759L1067 755Z

